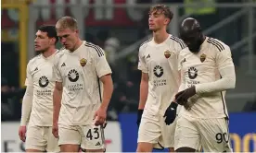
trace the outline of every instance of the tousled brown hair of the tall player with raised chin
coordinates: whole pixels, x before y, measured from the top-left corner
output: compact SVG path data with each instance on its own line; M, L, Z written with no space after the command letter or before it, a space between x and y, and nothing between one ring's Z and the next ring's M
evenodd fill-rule
M164 6L164 5L151 6L148 14L151 14L156 11L160 11L160 13L163 14L166 18L169 18L170 21L173 19L173 12L169 8L169 6Z

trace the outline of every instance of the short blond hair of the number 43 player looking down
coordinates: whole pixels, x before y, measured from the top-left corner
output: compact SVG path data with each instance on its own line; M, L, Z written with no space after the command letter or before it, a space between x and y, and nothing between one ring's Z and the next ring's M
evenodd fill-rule
M77 21L75 18L71 17L62 17L58 19L56 23L56 29L78 29Z

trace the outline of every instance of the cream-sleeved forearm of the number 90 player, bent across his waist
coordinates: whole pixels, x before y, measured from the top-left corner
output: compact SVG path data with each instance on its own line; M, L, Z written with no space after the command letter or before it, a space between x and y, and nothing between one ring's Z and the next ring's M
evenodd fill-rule
M235 88L236 74L235 74L235 68L233 66L226 67L220 70L220 74L222 78L217 81L196 85L196 92L198 94L209 93L209 92L220 92L226 89Z

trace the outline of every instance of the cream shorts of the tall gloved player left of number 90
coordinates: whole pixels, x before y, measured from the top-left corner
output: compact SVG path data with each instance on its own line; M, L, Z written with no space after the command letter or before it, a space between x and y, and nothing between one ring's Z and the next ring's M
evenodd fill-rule
M154 148L174 147L174 132L176 122L167 125L161 115L143 113L138 130L137 142L154 144Z

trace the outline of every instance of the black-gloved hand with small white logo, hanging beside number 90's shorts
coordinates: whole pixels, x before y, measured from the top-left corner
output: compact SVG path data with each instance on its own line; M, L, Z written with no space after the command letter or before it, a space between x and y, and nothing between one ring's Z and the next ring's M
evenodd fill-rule
M178 104L176 102L172 102L170 106L166 109L163 117L166 117L164 122L167 125L173 124L176 118Z

